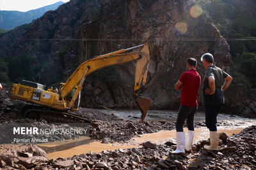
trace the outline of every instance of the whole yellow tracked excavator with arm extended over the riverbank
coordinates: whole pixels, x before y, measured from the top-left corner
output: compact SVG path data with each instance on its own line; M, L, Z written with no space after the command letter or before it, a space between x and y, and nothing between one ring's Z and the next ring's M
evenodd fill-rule
M143 46L140 52L127 52L140 46ZM86 76L102 67L123 64L133 60L136 61L134 97L138 108L141 110L141 122L143 122L150 107L150 99L142 97L140 94L141 83L145 85L146 82L150 60L148 45L133 46L86 60L77 67L67 82L61 83L59 90L52 87L45 90L45 85L26 80L22 80L19 84L13 83L9 97L33 103L22 108L25 117L44 118L48 122L72 122L71 120L73 122L77 120L90 122L84 117L68 112L79 109L80 92Z

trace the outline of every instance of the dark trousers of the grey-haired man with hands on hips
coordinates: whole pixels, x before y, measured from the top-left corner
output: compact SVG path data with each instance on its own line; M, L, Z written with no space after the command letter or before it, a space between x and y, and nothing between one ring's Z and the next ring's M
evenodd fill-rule
M205 124L210 131L217 131L217 115L222 104L205 104Z

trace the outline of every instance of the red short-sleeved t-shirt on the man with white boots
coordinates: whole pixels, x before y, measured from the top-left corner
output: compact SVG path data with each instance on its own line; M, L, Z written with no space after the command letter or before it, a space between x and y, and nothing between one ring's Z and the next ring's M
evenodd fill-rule
M180 105L187 107L196 107L197 94L201 84L201 77L196 69L191 69L181 74L179 81L183 84L180 95Z

